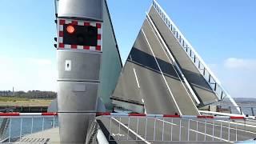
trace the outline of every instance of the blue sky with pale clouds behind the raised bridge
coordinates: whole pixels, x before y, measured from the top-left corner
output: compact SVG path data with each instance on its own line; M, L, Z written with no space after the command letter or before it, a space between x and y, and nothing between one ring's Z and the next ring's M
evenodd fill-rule
M125 61L151 0L108 0ZM158 0L233 97L254 97L256 1ZM56 90L53 0L1 0L0 90Z

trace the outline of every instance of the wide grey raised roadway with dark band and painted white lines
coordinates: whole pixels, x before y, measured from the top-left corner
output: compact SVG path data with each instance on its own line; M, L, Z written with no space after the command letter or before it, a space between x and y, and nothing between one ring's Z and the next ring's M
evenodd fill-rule
M142 30L122 69L113 96L138 103L144 101L147 114L180 114L180 109L181 114L198 115L190 94L147 21Z

